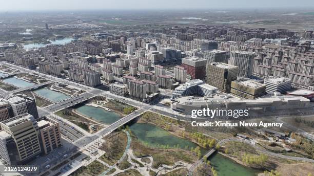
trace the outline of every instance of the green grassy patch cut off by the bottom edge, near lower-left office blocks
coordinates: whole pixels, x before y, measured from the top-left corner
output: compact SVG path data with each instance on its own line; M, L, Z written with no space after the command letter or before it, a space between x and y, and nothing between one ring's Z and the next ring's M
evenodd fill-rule
M99 175L107 169L108 167L106 167L102 163L98 161L93 161L88 166L80 167L79 169L71 173L70 175L71 176L93 176L93 175Z

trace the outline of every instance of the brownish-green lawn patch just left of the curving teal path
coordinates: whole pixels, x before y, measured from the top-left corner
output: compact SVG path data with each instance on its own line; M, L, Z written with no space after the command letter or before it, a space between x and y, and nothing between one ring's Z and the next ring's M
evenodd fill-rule
M123 156L127 145L127 135L120 131L105 137L104 140L106 142L103 143L100 149L106 151L106 153L100 159L109 165L113 165Z

